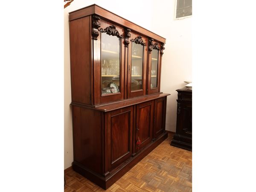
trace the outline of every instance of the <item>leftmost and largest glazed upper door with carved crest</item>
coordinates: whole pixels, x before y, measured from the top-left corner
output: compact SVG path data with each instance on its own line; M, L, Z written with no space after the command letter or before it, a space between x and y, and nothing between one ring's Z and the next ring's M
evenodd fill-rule
M124 99L124 29L100 20L93 40L94 104Z

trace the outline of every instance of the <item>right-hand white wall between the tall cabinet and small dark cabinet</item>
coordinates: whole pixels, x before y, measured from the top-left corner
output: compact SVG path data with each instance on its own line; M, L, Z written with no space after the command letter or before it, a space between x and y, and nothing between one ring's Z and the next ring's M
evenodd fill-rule
M175 132L176 90L184 87L183 81L192 81L192 17L174 20L175 0L154 1L153 7L161 12L152 17L149 30L166 38L161 73L161 91L171 94L167 96L166 130Z

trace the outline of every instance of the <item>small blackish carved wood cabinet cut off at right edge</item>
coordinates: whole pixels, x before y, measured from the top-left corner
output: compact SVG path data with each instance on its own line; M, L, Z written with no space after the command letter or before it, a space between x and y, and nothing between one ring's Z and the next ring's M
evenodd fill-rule
M192 90L181 88L177 99L177 125L171 145L192 151Z

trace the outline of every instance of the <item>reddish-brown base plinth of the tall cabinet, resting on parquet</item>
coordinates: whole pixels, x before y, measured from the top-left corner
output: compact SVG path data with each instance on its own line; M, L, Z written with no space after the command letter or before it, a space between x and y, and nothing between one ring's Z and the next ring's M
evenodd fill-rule
M103 177L96 172L90 171L85 166L74 161L72 163L73 170L83 175L87 179L96 183L103 189L108 189L113 183L115 183L120 177L125 175L133 166L135 166L140 160L142 160L147 154L149 154L154 148L157 147L168 137L168 133L164 132L154 142L151 142L147 147L139 151L134 157L131 157L124 163L122 163L115 172L110 173L107 177Z

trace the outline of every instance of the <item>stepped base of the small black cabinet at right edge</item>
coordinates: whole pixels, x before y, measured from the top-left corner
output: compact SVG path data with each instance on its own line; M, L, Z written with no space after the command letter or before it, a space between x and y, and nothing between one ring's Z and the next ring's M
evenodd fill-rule
M171 145L192 151L192 138L180 134L174 134Z

